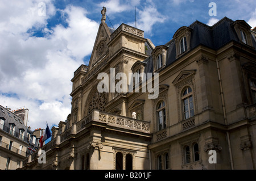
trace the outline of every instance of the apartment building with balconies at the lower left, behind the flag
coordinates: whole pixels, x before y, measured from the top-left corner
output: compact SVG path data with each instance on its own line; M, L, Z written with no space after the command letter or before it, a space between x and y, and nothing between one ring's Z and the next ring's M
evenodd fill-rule
M22 167L22 161L38 150L35 136L30 127L26 127L20 114L28 110L11 112L0 105L0 169L14 170ZM26 115L26 114L25 114ZM24 116L23 116L24 117ZM25 116L27 117L27 115Z

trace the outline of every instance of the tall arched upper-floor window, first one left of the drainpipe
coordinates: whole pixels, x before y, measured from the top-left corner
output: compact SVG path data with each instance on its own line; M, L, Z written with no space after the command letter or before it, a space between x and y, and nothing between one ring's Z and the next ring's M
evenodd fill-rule
M193 95L191 87L187 87L182 94L182 103L183 103L183 113L184 119L193 117L194 113L194 104L193 104Z

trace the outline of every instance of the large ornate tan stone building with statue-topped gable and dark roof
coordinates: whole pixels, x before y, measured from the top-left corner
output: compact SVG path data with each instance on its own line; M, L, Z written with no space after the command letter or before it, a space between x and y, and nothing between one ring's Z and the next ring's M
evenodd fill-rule
M155 47L142 30L109 28L102 11L89 65L71 80L71 114L52 127L52 140L42 148L46 163L35 153L22 169L255 169L251 27L226 17L211 27L196 21ZM145 73L147 83L135 75L139 91L134 85L119 92L102 85L99 73L123 90L130 82L121 85L118 73ZM142 91L150 75L152 85L159 75L157 95ZM112 91L100 93L98 85ZM210 150L217 163L209 162Z

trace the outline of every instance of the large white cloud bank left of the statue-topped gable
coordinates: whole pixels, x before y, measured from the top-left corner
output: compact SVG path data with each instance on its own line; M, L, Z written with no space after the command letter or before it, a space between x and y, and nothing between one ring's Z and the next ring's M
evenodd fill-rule
M40 1L0 2L0 104L13 110L29 109L32 129L51 126L71 113L73 72L90 54L99 24L86 18L81 7L68 6L68 27L49 30L47 19L57 11L46 3L46 16L38 16ZM46 37L31 37L31 28ZM14 93L8 96L6 93Z

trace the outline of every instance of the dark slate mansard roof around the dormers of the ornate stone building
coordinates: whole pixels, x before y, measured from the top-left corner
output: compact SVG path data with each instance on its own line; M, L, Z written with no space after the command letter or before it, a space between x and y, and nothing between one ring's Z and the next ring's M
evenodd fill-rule
M237 33L232 26L234 21L224 17L218 21L213 26L208 26L207 24L201 23L198 20L193 22L189 28L191 28L191 40L190 49L198 47L199 45L204 45L206 47L217 50L229 43L230 41L240 42ZM256 49L256 39L251 35L253 40L253 46ZM187 40L188 41L188 40ZM167 62L166 66L171 65L176 61L176 45L175 40L172 39L165 44L168 47L167 50ZM152 73L154 71L152 56L148 57L144 62L147 63L144 73Z

